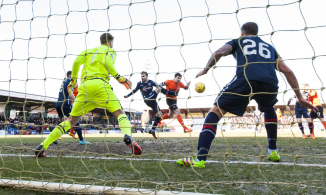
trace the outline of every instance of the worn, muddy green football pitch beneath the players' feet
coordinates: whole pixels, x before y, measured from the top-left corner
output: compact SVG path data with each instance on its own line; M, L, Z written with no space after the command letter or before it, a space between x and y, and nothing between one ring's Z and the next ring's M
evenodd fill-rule
M87 137L79 145L64 135L61 144L51 144L45 158L33 149L42 137L0 139L2 179L49 181L153 190L215 194L326 194L326 133L316 140L292 134L278 137L281 162L267 160L267 138L248 133L217 134L206 169L177 166L175 160L196 154L198 133L160 133L155 140L147 133L134 133L142 147L132 156L122 135ZM250 132L252 134L252 132ZM93 135L94 136L94 135ZM114 136L114 137L112 137ZM0 188L0 194L24 194L26 190ZM42 194L44 191L28 191ZM66 193L66 192L64 192Z

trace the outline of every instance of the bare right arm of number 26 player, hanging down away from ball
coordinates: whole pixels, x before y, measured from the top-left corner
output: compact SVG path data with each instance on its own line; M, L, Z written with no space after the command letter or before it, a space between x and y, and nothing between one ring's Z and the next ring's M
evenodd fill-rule
M277 63L275 63L275 69L279 70L280 72L282 72L284 74L284 76L285 76L285 78L287 80L287 83L292 87L295 95L297 96L297 98L299 100L299 104L301 106L306 107L306 108L310 108L314 112L317 112L318 108L311 105L306 99L304 99L302 97L302 94L301 94L300 89L299 89L298 80L295 77L293 71L287 65L285 65L282 58L277 58L276 62Z

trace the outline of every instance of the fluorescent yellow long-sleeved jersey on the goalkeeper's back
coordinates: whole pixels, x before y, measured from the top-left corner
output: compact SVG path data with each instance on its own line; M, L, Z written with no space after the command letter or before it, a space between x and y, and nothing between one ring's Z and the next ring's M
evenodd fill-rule
M116 53L107 45L101 45L93 49L83 51L72 65L71 78L78 78L80 65L84 64L81 82L89 79L102 79L109 83L110 75L118 76L114 68Z

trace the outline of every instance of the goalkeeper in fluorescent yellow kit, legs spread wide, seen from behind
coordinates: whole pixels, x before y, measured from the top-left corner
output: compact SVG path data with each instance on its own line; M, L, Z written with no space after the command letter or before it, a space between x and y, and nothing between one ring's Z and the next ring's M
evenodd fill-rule
M75 126L82 115L94 108L106 108L118 119L119 127L124 134L124 142L134 152L135 155L141 154L140 146L131 138L130 121L123 111L119 100L113 93L109 84L110 75L127 89L131 88L131 82L119 75L114 68L116 53L112 49L113 36L104 33L100 36L101 46L83 51L72 65L71 82L68 85L68 91L76 85L79 68L84 64L81 76L81 85L78 87L78 95L74 106L70 112L69 118L60 123L46 139L36 148L37 156L45 156L47 147L63 135L71 126Z

